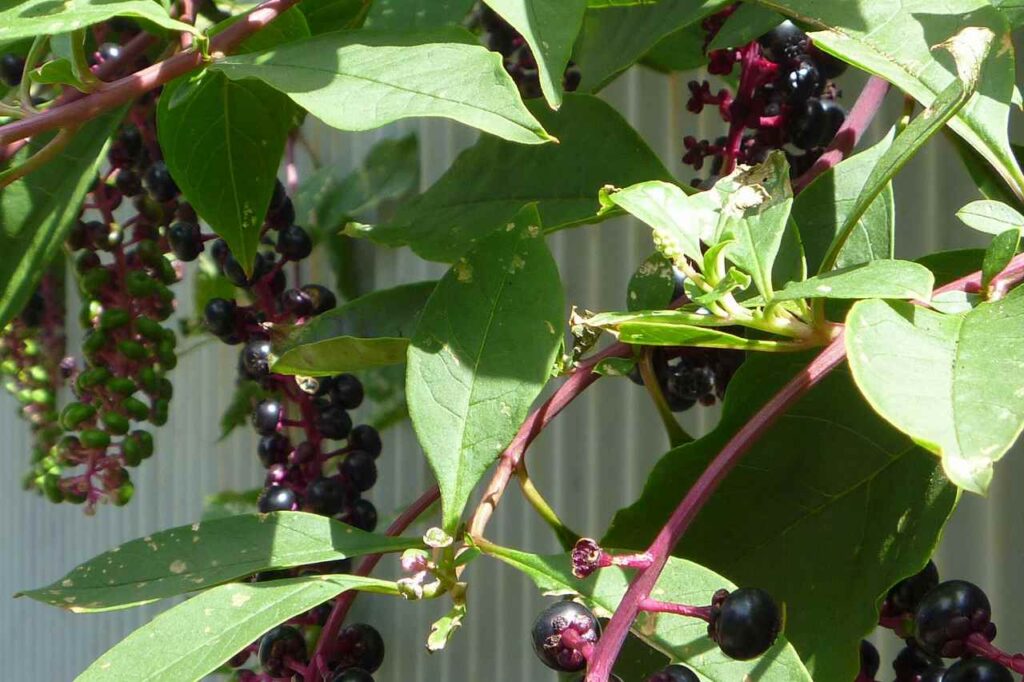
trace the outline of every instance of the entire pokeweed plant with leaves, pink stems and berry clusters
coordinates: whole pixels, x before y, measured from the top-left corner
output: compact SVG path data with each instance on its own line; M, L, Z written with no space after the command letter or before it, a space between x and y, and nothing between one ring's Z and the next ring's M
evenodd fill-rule
M266 469L208 518L24 594L75 612L190 595L81 680L373 680L385 642L346 623L358 592L450 600L425 633L438 650L484 557L561 597L531 644L586 682L864 682L879 625L906 640L900 682L1013 679L1024 656L992 643L984 592L930 557L1024 425L1022 23L985 0L6 3L0 372L35 436L27 487L89 513L130 501L178 333L239 349L222 427L251 421ZM637 63L707 75L686 109L722 134L679 140L698 177L597 96ZM893 88L902 117L860 148ZM482 134L416 195L415 138L300 177L303 147L318 165L307 115ZM957 215L991 245L895 259L892 180L946 129L981 196ZM653 241L627 309L569 314L547 237L627 214ZM451 267L366 292L353 238ZM314 249L331 286L306 280ZM200 314L175 333L187 263ZM602 377L646 389L672 450L598 539L525 456ZM376 426L353 423L365 401ZM702 437L676 421L717 401ZM375 532L381 429L407 415L436 485ZM563 553L487 539L513 479ZM384 554L400 580L372 577ZM628 639L663 663L616 668Z

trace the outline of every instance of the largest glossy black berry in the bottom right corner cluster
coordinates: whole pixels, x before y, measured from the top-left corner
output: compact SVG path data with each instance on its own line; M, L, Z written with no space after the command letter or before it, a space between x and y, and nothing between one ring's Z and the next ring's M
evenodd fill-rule
M914 612L915 639L933 655L957 657L972 633L995 636L992 607L981 589L967 581L946 581L926 594Z

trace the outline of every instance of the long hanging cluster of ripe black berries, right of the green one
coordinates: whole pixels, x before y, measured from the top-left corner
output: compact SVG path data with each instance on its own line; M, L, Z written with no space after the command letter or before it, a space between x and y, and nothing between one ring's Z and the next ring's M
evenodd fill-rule
M239 380L260 387L252 404L252 426L259 435L256 454L266 468L258 509L306 511L334 517L362 530L377 526L377 510L362 498L377 482L376 460L381 455L380 434L372 426L354 425L350 411L364 400L364 387L350 374L332 377L288 377L271 371L271 333L281 325L303 325L337 305L334 294L319 285L289 286L286 265L309 256L312 241L295 224L295 208L285 187L278 183L262 228L262 248L252 274L231 254L222 240L213 242L211 255L221 273L242 289L248 303L211 299L204 310L207 329L228 345L241 346ZM182 257L198 255L203 245L198 230L188 226L172 230L171 245ZM194 255L195 254L195 255ZM295 276L299 269L296 267ZM293 283L298 285L298 283ZM330 441L344 441L331 445ZM253 580L287 578L298 572L338 573L350 570L348 561L304 566L296 571L257 574ZM259 680L299 672L308 658L307 637L314 637L331 612L332 602L271 630L240 652L234 667L258 651L262 676L240 671L242 680ZM305 633L305 634L303 634ZM343 629L327 662L335 680L372 680L381 665L384 643L371 626Z

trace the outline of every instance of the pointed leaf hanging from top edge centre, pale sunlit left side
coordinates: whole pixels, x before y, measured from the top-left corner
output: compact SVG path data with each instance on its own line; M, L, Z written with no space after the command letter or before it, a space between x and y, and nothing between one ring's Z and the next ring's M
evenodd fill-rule
M552 109L562 105L562 77L587 0L486 0L526 40L537 59L541 89Z

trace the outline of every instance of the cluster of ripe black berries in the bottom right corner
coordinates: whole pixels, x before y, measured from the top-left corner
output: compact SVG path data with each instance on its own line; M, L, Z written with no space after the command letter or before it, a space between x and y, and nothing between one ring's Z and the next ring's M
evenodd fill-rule
M939 582L929 561L897 583L882 606L881 623L906 641L893 662L896 682L1012 682L1008 666L1019 656L994 646L995 625L988 597L967 581ZM943 658L956 658L947 665ZM879 653L861 643L858 681L874 680ZM1017 670L1014 668L1014 670Z

